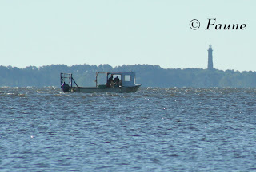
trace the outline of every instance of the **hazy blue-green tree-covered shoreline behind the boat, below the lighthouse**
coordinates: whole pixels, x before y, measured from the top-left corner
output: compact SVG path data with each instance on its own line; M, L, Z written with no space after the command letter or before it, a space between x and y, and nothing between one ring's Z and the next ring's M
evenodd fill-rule
M158 65L46 65L17 68L0 66L0 86L60 87L60 73L73 73L78 86L94 86L95 72L133 71L142 87L256 88L256 72L202 68L161 68Z

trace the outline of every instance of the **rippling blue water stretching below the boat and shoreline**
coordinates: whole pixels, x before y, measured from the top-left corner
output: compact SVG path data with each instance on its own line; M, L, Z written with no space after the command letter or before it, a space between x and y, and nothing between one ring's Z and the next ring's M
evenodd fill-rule
M0 88L0 171L255 171L256 88Z

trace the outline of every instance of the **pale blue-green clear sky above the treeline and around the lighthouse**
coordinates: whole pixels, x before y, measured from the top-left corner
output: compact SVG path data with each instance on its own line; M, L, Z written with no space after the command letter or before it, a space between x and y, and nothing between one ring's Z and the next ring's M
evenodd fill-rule
M207 68L211 44L214 68L256 71L255 7L254 0L0 0L0 65Z

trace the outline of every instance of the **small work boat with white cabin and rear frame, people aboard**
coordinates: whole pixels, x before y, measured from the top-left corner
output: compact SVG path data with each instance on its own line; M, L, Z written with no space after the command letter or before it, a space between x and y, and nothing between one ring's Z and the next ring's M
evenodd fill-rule
M96 72L95 87L80 87L72 73L60 74L63 92L137 92L142 84L136 84L135 72Z

